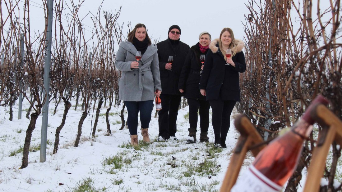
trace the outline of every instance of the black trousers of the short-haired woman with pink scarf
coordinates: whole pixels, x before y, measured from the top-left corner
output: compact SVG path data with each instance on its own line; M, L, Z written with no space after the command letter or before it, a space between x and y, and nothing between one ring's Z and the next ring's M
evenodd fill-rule
M208 101L196 100L188 98L189 104L189 124L190 128L195 128L197 131L198 109L200 117L200 129L202 132L208 132L209 128L209 109L210 103Z

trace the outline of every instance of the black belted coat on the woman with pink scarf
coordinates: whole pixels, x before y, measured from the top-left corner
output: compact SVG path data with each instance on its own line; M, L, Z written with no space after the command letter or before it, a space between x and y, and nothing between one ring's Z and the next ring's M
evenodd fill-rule
M190 48L185 59L184 66L179 78L178 89L184 89L185 97L197 100L206 100L199 90L199 81L201 79L200 72L202 63L199 61L200 55L206 55L199 50L199 42Z

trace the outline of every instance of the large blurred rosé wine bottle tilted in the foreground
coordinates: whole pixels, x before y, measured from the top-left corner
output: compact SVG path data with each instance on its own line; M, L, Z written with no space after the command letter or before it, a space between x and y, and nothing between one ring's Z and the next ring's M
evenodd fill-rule
M318 95L290 131L278 136L259 152L231 192L278 192L282 189L297 167L304 140L312 131L314 119L310 113L317 103L327 105L329 101Z

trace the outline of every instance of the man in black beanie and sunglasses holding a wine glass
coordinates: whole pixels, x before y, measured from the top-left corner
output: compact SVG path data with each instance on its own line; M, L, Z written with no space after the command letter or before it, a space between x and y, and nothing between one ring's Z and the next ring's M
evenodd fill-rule
M177 140L176 121L183 95L179 92L178 81L186 55L190 50L189 45L179 40L181 28L178 25L172 25L168 33L167 40L157 43L162 90L160 95L162 109L158 112L158 141L167 141L170 137ZM173 56L172 64L168 62L169 56Z

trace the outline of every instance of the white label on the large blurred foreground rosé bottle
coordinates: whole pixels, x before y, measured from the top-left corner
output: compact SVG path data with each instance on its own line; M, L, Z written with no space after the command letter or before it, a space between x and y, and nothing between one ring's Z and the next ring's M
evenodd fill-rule
M251 165L233 186L231 192L279 192L282 186L274 183Z

